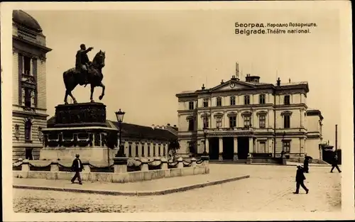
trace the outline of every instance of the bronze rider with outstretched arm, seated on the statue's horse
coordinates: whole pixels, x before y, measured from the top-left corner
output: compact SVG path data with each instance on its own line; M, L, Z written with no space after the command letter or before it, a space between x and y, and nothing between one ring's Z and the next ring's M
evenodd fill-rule
M81 76L80 85L88 84L87 74L89 72L89 65L91 64L89 57L87 57L87 52L91 51L93 47L88 49L84 44L80 45L80 50L77 51L75 68Z

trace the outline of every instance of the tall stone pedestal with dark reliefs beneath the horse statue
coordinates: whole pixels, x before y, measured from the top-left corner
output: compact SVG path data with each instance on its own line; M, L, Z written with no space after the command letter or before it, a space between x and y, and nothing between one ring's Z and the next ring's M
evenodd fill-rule
M40 160L72 160L79 154L81 159L107 162L118 150L108 148L116 145L118 130L107 126L102 103L56 106L55 117L48 122L42 130Z

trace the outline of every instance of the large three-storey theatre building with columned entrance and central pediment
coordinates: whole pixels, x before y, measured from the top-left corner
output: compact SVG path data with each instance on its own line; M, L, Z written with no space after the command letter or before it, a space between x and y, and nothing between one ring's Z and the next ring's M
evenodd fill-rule
M205 147L211 160L280 157L282 151L291 159L305 153L319 159L323 117L308 109L308 92L307 82L268 84L250 74L183 91L176 95L180 155L201 155Z

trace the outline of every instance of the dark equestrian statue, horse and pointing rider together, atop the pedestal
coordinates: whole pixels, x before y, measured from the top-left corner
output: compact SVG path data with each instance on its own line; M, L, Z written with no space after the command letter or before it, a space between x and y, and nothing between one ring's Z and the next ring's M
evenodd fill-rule
M80 86L90 84L91 86L91 94L90 101L94 102L92 99L92 94L94 94L95 87L102 87L102 94L99 96L101 100L104 97L105 86L102 84L102 79L104 75L102 74L102 68L105 66L105 52L100 50L94 56L92 62L89 61L89 57L87 57L87 52L90 52L94 48L89 47L86 48L84 44L80 45L80 50L77 51L76 60L75 60L75 68L71 68L63 72L63 80L65 84L65 97L64 103L67 103L67 96L72 97L73 103L77 103L77 100L74 96L72 96L72 90L77 87L78 84Z

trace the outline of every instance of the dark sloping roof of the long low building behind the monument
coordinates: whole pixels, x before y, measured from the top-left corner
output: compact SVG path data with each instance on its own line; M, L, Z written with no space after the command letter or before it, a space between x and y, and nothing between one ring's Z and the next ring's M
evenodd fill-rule
M48 128L55 124L55 116L47 121ZM119 129L119 123L116 121L106 121L107 127ZM123 138L138 138L151 140L172 140L176 139L177 135L161 128L153 128L151 126L140 126L132 123L121 123Z

